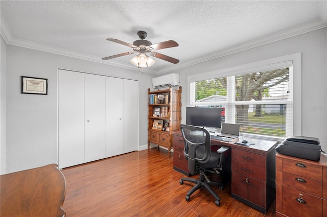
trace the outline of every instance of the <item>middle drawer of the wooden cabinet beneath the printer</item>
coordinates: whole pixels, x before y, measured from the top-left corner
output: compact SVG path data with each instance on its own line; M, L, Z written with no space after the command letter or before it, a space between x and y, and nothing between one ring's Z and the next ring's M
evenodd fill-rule
M322 182L314 179L284 172L283 186L298 189L314 196L322 197Z

